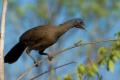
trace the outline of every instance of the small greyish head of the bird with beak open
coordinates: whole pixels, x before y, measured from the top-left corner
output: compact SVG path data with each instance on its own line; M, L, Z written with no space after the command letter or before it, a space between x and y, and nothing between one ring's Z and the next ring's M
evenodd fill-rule
M82 19L74 19L73 26L85 30L85 23Z

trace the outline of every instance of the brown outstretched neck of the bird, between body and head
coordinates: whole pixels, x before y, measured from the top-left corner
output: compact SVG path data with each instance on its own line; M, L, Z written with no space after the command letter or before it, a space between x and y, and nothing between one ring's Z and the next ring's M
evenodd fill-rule
M60 24L57 31L58 36L61 36L71 28L73 28L73 24L71 22Z

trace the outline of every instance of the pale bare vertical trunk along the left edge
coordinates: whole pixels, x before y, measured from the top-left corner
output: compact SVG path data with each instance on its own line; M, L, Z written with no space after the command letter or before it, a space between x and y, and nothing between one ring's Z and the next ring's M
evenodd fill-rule
M3 0L3 10L1 19L0 35L0 80L4 80L4 36L5 36L5 18L7 13L7 0Z

